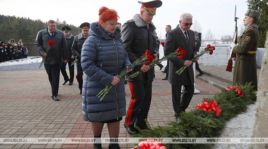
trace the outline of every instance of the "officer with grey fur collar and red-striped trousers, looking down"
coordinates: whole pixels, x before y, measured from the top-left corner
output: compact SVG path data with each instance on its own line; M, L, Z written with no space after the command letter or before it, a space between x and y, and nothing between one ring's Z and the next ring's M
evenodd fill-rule
M162 5L160 0L142 3L140 14L135 14L132 20L128 20L122 26L122 37L124 47L128 53L130 62L136 61L140 58L145 50L150 50L154 61L158 59L159 52L156 47L156 37L153 31L156 27L153 25L152 18L156 14L156 8ZM147 119L148 111L152 99L152 80L153 70L147 65L139 65L134 68L134 73L141 70L139 76L128 79L129 88L131 91L131 101L128 107L128 112L124 127L128 133L137 134L134 124L141 129L146 129L147 125L144 119ZM126 74L128 78L129 74Z

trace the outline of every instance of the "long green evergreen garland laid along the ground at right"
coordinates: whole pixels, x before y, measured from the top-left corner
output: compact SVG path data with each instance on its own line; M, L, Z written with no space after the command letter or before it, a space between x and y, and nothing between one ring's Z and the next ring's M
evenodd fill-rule
M190 112L181 112L179 122L170 122L170 127L150 127L147 120L148 129L141 130L139 127L136 129L140 132L131 137L144 137L144 138L215 138L221 133L220 130L224 129L225 124L231 118L237 116L242 112L246 112L247 106L254 104L256 101L256 90L252 88L250 83L241 85L237 83L235 86L241 88L244 92L244 97L238 96L234 90L226 91L225 88L221 89L221 93L216 93L213 97L207 100L214 100L220 105L221 116L216 116L214 112L207 112L201 109L191 110ZM137 144L136 144L137 145ZM163 144L168 149L209 149L213 144ZM138 147L139 148L139 147Z

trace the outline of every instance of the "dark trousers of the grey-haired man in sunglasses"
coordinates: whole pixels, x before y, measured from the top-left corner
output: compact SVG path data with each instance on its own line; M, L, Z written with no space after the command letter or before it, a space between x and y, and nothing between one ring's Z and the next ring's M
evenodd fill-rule
M180 117L180 112L185 112L185 109L189 106L190 101L194 93L194 85L184 85L184 90L181 96L181 85L172 85L172 104L175 112L176 119Z

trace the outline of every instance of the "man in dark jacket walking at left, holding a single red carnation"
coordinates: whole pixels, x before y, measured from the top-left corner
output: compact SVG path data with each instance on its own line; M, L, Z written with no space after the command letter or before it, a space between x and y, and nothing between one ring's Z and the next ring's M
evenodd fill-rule
M54 45L46 53L49 46L47 42L49 40L54 41ZM51 97L55 101L58 101L60 64L62 57L63 62L65 64L67 63L67 45L64 33L56 28L55 21L49 20L47 22L47 28L37 33L35 47L42 57L45 57L44 66L51 85Z

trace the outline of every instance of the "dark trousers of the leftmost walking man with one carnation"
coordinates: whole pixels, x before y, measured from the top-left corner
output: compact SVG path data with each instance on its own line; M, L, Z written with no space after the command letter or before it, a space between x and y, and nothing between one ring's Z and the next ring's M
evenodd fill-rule
M47 71L48 80L51 85L52 96L58 96L59 92L59 64L44 64Z

